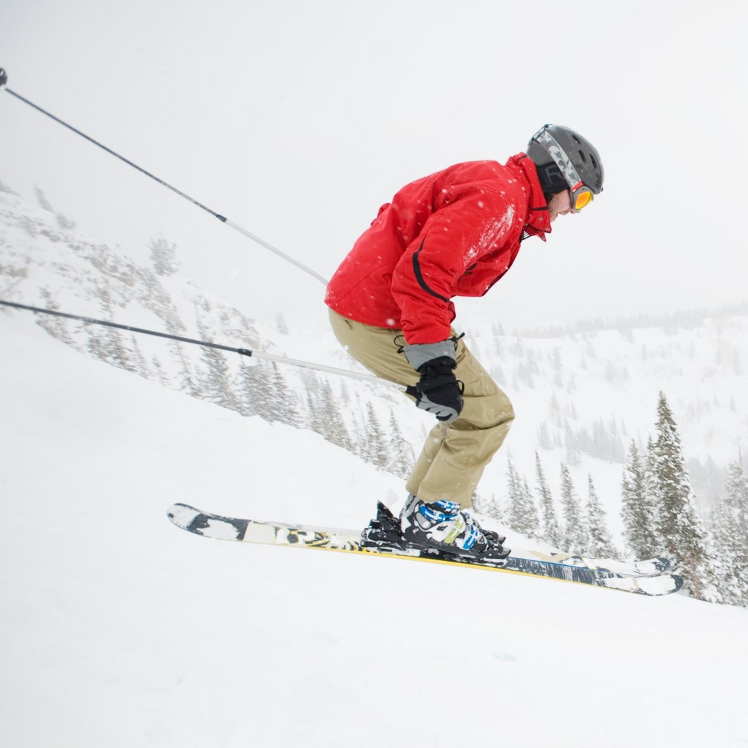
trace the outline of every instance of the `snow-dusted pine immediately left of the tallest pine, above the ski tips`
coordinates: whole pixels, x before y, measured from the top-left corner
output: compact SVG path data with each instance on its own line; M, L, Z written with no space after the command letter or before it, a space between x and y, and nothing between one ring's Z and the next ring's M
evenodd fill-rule
M635 441L628 448L628 462L621 483L621 516L626 544L631 555L648 559L662 552L657 543L656 521L652 512L646 470Z

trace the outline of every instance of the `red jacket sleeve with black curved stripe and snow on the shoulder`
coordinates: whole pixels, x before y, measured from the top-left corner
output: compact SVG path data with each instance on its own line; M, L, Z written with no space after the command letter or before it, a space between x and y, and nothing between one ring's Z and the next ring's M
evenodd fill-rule
M392 292L408 343L450 337L451 299L460 278L506 242L514 223L514 206L479 188L465 189L429 216L393 272Z

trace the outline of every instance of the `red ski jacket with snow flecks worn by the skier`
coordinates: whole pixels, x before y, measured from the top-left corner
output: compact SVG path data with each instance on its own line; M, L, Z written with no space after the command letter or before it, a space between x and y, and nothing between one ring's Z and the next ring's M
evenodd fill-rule
M328 283L344 317L402 329L408 343L450 337L451 299L482 296L517 256L523 232L551 232L535 165L524 153L450 166L379 209Z

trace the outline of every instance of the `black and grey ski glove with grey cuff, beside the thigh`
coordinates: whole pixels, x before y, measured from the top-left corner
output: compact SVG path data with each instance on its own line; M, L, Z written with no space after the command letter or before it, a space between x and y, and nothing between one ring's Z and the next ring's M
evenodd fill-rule
M421 375L414 387L405 392L416 400L416 405L433 413L438 420L452 423L462 411L463 384L456 378L453 340L441 343L421 343L405 346L405 358Z

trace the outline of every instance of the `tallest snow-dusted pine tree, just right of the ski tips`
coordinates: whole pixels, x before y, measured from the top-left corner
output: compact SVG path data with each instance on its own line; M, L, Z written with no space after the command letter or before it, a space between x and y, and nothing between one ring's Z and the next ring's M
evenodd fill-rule
M707 530L696 512L696 503L685 469L675 418L660 392L657 402L657 437L652 458L654 485L660 509L660 535L674 569L684 577L685 588L696 598L718 601Z

